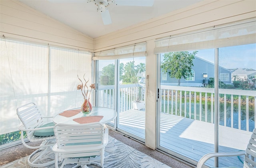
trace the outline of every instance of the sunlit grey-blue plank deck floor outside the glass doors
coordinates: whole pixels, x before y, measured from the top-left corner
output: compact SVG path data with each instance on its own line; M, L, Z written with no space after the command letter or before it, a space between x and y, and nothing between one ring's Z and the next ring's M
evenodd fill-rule
M160 123L160 146L197 162L204 154L214 151L214 124L164 113L161 113ZM118 128L145 138L145 112L121 112ZM245 150L251 135L250 132L224 126L219 127L219 133L220 152ZM237 157L220 158L219 163L220 166L243 165ZM214 166L214 160L206 164Z

